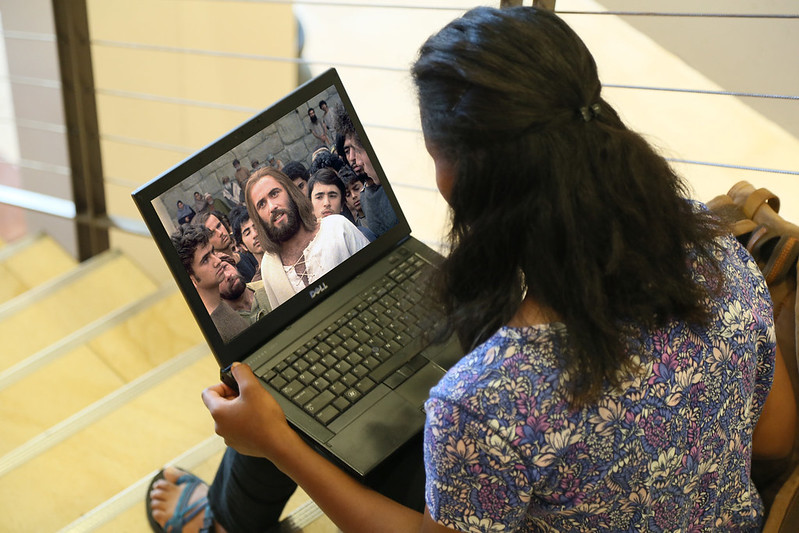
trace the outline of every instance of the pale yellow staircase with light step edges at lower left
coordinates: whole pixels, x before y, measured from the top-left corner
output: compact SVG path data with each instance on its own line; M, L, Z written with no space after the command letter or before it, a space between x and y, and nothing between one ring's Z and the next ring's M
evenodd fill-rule
M0 530L149 531L158 469L211 480L224 451L200 400L218 367L182 296L46 235L0 244L0 276ZM301 491L281 525L337 531Z

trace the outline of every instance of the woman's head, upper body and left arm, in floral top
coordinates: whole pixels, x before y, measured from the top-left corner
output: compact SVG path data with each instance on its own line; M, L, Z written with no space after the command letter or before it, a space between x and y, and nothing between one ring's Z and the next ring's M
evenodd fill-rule
M746 251L622 124L554 14L469 11L413 75L452 212L443 333L470 350L426 404L424 513L311 450L246 366L239 396L203 394L217 432L344 531L757 530L775 347Z

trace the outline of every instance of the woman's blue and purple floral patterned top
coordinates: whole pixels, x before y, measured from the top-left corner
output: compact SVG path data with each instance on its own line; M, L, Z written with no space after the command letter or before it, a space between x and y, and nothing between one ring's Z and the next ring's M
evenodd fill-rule
M719 252L710 327L630 345L641 372L572 409L565 326L503 327L431 390L426 499L462 531L759 531L752 431L771 387L771 299L748 252ZM700 279L704 266L693 258Z

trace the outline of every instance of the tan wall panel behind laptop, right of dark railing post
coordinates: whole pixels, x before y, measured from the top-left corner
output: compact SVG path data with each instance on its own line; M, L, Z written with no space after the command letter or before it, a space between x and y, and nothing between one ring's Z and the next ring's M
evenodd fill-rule
M288 4L91 0L88 8L111 214L138 219L133 189L296 86ZM152 275L169 277L151 239L111 237Z

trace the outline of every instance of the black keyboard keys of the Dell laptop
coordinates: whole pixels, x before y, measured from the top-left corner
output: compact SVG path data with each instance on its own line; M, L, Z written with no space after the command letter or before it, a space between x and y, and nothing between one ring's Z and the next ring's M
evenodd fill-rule
M409 252L400 250L400 252ZM424 328L435 319L421 305L418 255L390 258L396 266L341 310L335 320L261 379L322 424L347 411L378 383L396 388L421 369Z

